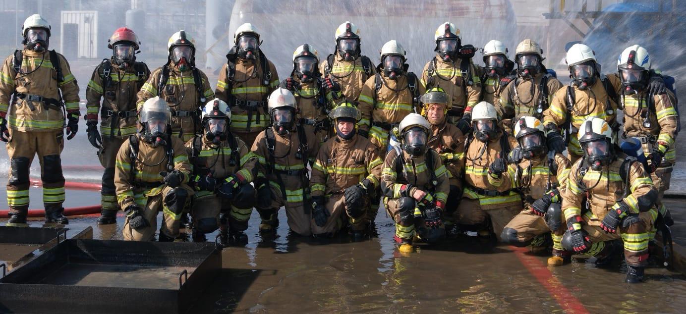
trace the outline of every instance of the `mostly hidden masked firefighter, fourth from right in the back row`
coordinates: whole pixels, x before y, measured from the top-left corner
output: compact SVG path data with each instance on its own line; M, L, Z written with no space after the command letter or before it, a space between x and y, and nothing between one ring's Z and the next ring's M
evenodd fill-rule
M481 100L488 104L498 104L505 86L514 80L514 62L508 59L508 49L500 40L490 40L482 52L484 67L479 67Z

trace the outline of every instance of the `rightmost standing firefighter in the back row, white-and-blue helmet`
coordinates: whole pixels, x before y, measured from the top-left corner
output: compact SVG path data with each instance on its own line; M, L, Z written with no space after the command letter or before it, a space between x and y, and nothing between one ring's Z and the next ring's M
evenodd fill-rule
M639 139L643 154L650 160L648 169L658 192L661 222L671 226L674 220L662 197L670 189L679 118L674 94L669 90L654 93L650 89L651 63L648 51L639 45L624 49L617 60L617 71L622 81L620 104L624 110L622 137ZM655 231L652 230L652 237Z

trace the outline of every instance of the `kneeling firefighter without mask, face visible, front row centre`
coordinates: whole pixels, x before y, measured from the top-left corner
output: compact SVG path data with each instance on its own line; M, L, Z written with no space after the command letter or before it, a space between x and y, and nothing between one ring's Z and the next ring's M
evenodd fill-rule
M357 134L355 105L343 101L330 116L336 136L320 147L312 167L312 232L332 236L349 223L351 239L359 241L383 161L377 147Z

